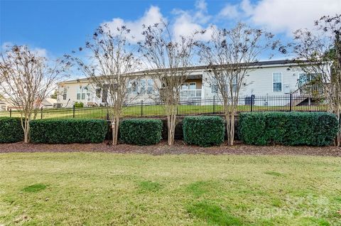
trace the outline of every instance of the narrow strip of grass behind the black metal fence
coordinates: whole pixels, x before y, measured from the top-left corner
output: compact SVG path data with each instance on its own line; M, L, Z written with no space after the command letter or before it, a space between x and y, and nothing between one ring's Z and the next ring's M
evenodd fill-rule
M251 107L249 105L238 106L239 112L249 112ZM253 111L288 111L288 106L253 106ZM325 111L325 106L295 106L293 111ZM63 119L63 118L83 118L83 119L106 119L107 107L84 107L75 109L75 115L72 108L62 109L43 109L43 112L38 111L38 118L40 119ZM179 115L189 114L212 114L221 113L222 105L180 105L178 107ZM43 113L43 115L41 114ZM9 112L0 112L0 117L9 117ZM19 112L13 111L12 117L20 117ZM165 109L162 105L146 105L124 107L123 117L164 117L166 116Z

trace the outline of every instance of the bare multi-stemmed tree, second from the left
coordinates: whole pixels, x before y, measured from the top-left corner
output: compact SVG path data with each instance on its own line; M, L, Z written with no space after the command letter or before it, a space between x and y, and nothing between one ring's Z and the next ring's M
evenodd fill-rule
M72 57L78 69L94 83L95 88L107 93L113 145L117 144L119 118L128 100L129 82L134 78L129 74L138 70L140 65L134 54L136 45L134 47L129 43L129 33L126 26L115 31L107 24L99 26L85 43L85 48L80 48L89 58Z

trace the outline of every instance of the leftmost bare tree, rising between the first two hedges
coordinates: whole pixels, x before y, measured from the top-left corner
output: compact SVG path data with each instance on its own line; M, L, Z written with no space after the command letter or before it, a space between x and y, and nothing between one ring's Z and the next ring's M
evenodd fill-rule
M43 99L70 66L65 60L52 62L26 45L13 45L0 54L0 93L21 113L24 141L29 141L31 119L36 118Z

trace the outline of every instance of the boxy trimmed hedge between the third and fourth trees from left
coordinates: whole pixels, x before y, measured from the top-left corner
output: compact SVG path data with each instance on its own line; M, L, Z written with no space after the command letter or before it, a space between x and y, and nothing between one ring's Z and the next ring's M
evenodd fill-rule
M193 116L183 119L183 139L199 146L220 145L224 142L224 119L218 116Z

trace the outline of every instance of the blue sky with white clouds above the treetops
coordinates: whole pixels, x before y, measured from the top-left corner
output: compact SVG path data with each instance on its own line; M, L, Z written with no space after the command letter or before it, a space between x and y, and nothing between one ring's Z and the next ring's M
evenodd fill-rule
M244 21L288 41L292 31L311 27L314 19L340 9L340 0L0 0L0 44L26 44L44 55L60 56L83 45L101 23L127 24L139 37L142 23L159 18L170 21L175 34Z

